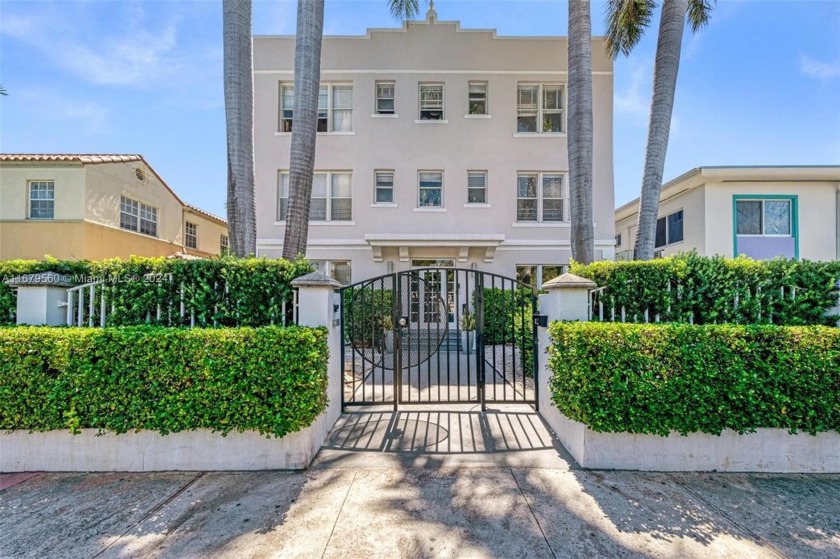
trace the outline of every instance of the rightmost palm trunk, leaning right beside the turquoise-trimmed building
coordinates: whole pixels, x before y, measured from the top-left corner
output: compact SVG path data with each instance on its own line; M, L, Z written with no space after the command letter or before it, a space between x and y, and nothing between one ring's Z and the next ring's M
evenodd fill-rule
M659 195L662 192L662 174L665 153L671 132L671 114L677 73L680 68L683 29L688 0L665 0L656 44L656 63L653 71L653 99L650 105L648 141L645 153L645 172L642 179L639 221L636 233L634 258L650 260L656 243L656 219L659 215Z

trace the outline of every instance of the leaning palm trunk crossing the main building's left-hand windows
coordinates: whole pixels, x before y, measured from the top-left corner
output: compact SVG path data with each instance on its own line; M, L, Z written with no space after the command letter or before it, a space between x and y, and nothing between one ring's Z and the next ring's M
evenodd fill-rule
M283 257L306 254L309 206L315 169L315 136L318 127L318 89L321 82L321 39L324 0L298 0L295 36L295 99L292 113L292 146L289 153L289 207Z

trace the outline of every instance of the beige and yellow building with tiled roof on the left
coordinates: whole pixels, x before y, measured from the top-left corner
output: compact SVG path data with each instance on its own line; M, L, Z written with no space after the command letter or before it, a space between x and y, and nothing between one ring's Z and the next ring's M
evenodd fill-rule
M227 235L140 155L0 154L0 260L215 256Z

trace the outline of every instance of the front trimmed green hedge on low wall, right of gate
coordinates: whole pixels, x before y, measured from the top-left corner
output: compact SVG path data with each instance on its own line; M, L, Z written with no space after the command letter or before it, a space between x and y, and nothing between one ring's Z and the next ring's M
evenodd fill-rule
M840 329L560 323L551 398L594 431L840 431Z

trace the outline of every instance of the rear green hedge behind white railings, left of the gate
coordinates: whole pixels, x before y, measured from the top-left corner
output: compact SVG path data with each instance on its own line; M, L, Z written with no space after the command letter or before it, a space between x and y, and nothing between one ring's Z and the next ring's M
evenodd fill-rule
M101 262L48 258L0 261L0 279L55 271L74 283L107 282L109 326L160 323L169 326L266 326L283 322L283 301L292 300L291 281L312 271L303 259L224 257L205 260L132 257ZM183 295L182 295L183 289ZM98 313L99 297L94 308ZM186 314L180 316L183 300ZM110 313L113 305L114 312ZM85 305L87 307L87 305ZM157 310L161 318L157 319ZM85 316L87 316L85 308ZM98 316L98 315L97 315ZM98 321L97 321L98 322ZM0 325L15 323L15 296L0 283Z

